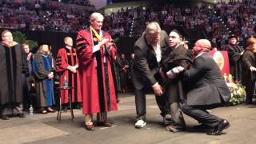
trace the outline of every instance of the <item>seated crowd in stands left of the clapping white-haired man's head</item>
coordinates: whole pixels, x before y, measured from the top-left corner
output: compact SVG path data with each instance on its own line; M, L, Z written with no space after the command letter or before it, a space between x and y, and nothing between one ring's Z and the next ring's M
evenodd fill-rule
M89 24L94 9L77 9L59 2L0 2L0 27L20 30L77 32ZM71 8L70 8L71 7Z

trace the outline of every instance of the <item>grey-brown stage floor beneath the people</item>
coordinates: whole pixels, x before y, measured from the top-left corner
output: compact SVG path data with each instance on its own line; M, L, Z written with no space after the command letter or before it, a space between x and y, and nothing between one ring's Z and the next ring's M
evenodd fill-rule
M185 116L187 130L171 133L161 125L162 117L156 105L154 95L146 96L147 125L143 129L134 128L134 94L120 94L119 110L109 113L109 120L114 122L111 128L96 127L86 130L82 110L74 110L74 122L70 112L62 113L62 122L56 121L54 114L26 115L26 118L0 120L1 144L250 144L256 142L256 105L221 107L210 113L230 121L230 128L220 136L209 136L203 131L194 130L198 125L194 119Z

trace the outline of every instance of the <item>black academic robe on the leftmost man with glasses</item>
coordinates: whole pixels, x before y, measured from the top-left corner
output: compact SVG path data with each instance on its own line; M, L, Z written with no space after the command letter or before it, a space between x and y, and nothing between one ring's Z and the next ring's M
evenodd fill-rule
M26 54L21 45L8 47L0 43L0 113L7 105L22 103L22 74L26 72Z

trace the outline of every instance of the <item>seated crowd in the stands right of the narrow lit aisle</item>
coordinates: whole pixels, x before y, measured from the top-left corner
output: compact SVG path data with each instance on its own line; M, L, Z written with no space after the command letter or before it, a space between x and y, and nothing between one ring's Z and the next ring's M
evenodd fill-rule
M187 30L199 28L206 32L214 46L223 50L221 46L230 33L238 35L243 45L246 38L255 36L255 5L255 2L222 2L213 6L154 5L146 7L139 15L143 19L142 26L157 21L163 29L171 25L182 25Z

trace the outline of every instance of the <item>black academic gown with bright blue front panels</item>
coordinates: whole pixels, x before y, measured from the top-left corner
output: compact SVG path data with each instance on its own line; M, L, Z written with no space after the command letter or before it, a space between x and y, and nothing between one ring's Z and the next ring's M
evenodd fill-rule
M54 71L54 58L50 54L34 54L33 72L38 108L54 105L54 81L47 77Z

